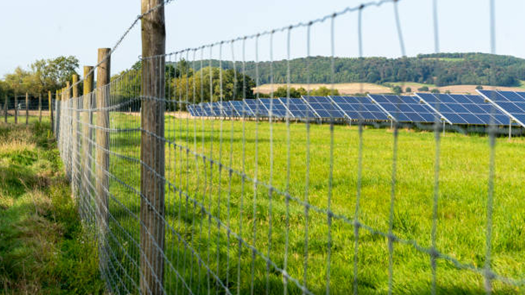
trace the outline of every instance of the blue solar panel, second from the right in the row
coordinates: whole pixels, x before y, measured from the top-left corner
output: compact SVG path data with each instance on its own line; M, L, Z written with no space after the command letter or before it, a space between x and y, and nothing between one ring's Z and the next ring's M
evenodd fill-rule
M509 117L477 95L416 93L453 124L499 125L509 123Z

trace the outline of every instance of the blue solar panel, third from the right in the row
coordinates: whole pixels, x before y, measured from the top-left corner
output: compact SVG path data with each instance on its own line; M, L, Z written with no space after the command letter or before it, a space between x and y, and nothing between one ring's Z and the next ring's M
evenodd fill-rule
M441 116L414 96L369 94L369 97L398 122L431 123ZM450 123L450 122L449 122Z

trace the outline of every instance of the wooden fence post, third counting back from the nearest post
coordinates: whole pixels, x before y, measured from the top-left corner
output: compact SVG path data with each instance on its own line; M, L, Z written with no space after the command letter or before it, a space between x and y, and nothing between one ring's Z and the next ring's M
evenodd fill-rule
M91 92L93 91L93 67L84 67L84 89L83 106L84 111L81 114L82 121L82 164L81 169L85 174L82 177L82 187L87 189L91 182Z

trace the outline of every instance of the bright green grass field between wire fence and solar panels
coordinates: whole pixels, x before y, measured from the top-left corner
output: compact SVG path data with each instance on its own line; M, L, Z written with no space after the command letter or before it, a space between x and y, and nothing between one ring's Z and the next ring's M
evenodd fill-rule
M133 261L139 261L140 164L122 155L140 157L140 133L129 130L139 127L140 118L119 113L110 118L111 128L127 129L110 135L110 261L120 277L112 286L131 291L139 281ZM283 122L166 117L167 292L224 293L227 287L241 294L282 293L286 280L279 269L285 263L295 279L287 281L289 293L300 294L298 284L313 293L325 293L327 285L333 294L353 292L356 197L359 192L360 222L388 233L393 132L364 128L359 178L358 127L335 125L331 132L329 124L312 123L307 130L305 123L288 128ZM432 245L435 149L433 132L399 131L393 234L425 248ZM493 271L521 281L524 149L523 138L497 139L491 241ZM446 133L441 139L436 247L480 269L486 257L489 152L486 135ZM328 208L335 214L330 226ZM387 238L361 228L358 245L359 293L387 293ZM479 273L446 260L437 261L436 277L438 293L485 292ZM430 257L394 243L394 292L430 293L431 282ZM523 291L497 280L493 288Z

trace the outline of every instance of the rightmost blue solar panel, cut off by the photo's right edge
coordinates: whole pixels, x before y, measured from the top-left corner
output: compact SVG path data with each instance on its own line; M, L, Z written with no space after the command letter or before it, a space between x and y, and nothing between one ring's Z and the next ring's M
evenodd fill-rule
M478 90L495 107L525 127L525 92ZM508 124L509 122L507 122Z

